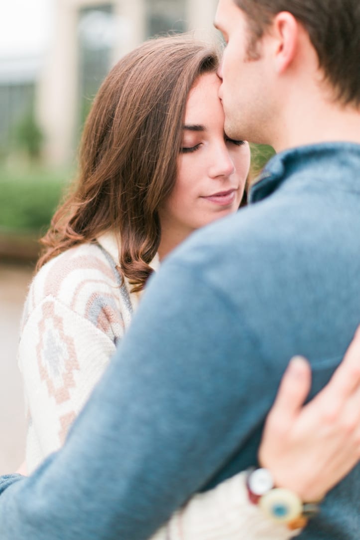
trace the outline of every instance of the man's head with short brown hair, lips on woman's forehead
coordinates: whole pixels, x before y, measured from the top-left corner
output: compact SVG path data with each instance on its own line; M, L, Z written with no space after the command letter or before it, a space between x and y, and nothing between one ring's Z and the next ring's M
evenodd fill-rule
M215 25L227 42L219 76L229 137L281 149L308 142L288 134L276 145L314 111L326 119L325 107L360 107L359 0L219 0Z

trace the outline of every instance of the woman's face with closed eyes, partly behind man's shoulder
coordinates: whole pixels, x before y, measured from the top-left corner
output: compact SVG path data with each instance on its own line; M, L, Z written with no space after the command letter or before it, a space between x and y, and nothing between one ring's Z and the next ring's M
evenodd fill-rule
M249 145L224 133L216 73L199 77L186 103L178 174L159 217L176 243L192 231L236 212L250 166Z

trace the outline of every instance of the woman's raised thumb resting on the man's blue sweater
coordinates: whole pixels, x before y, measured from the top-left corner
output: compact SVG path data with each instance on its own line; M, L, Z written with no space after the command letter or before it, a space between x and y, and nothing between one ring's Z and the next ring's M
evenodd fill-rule
M272 406L272 414L284 418L294 417L302 407L310 392L311 369L302 356L294 356L283 375L279 390Z

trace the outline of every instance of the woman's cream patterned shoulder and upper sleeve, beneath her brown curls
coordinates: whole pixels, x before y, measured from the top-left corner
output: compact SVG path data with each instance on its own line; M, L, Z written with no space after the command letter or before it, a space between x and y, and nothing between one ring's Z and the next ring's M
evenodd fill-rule
M60 448L131 318L104 253L85 245L50 261L31 284L18 349L29 472ZM125 313L126 312L126 313Z

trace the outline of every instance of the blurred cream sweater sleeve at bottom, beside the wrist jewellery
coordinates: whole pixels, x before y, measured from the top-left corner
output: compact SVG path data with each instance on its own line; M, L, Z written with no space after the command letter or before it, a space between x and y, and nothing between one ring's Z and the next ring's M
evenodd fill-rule
M193 496L151 540L288 540L298 534L249 502L246 473L239 473Z

